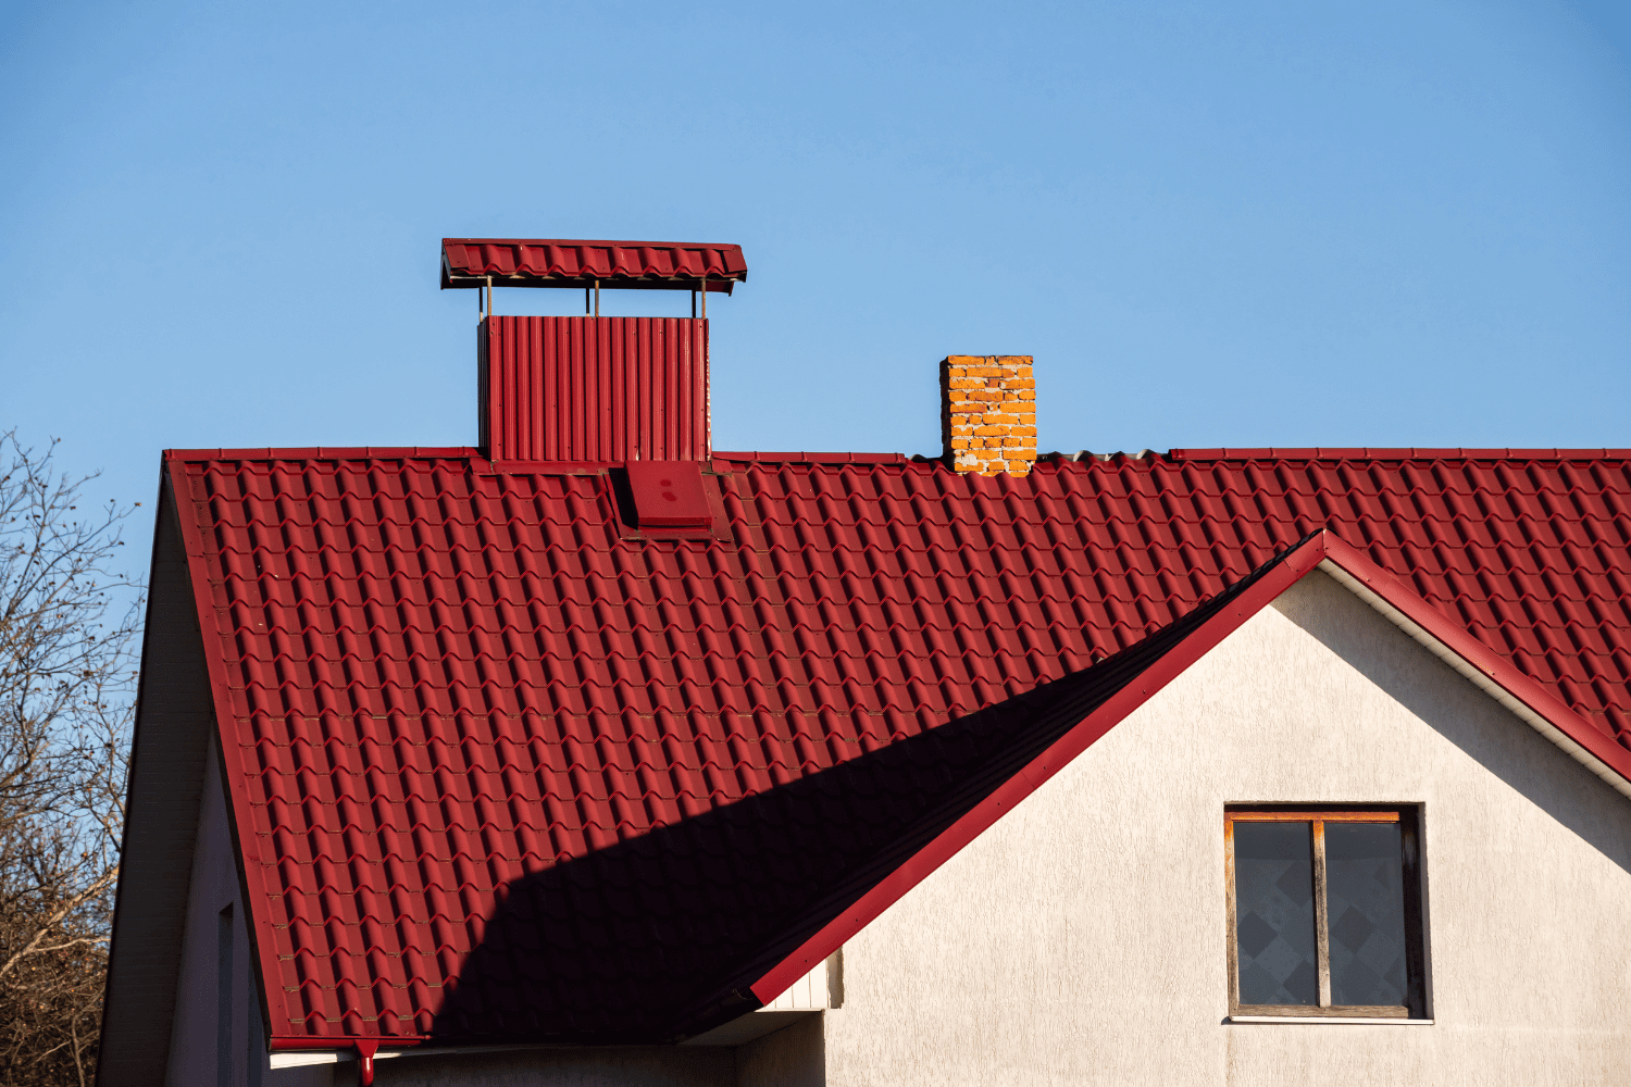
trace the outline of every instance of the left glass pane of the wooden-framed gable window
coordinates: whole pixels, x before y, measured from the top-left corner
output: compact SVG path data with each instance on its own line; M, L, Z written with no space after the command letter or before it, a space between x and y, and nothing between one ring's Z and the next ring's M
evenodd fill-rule
M1235 823L1241 1004L1318 1004L1308 823Z

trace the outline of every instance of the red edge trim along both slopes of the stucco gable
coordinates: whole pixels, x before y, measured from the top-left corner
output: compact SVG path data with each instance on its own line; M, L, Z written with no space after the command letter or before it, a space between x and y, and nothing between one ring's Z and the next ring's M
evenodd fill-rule
M1355 592L1360 600L1375 606L1375 601L1367 598L1367 593L1375 596L1421 629L1427 637L1442 644L1447 654L1465 660L1470 670L1476 670L1474 675L1487 676L1492 686L1510 698L1509 701L1497 696L1497 701L1502 701L1502 704L1528 720L1532 727L1540 728L1548 738L1558 742L1561 737L1564 742L1559 746L1608 781L1621 794L1631 797L1631 751L1620 748L1613 740L1602 735L1562 701L1522 675L1510 662L1502 660L1497 654L1486 649L1471 634L1456 627L1452 619L1439 613L1403 582L1386 574L1359 549L1336 536L1336 533L1319 531L1295 546L1288 554L1271 559L1271 562L1279 566L1267 570L1258 583L1246 588L1194 634L1150 665L1138 680L1111 696L1103 706L1088 714L1081 724L1032 759L1031 764L1010 777L967 815L953 823L928 846L856 900L843 914L830 921L781 960L781 963L767 971L752 984L754 996L768 1004L785 992L788 986L809 973L816 963L843 947L856 932L876 921L884 909L928 878L935 869L956 856L964 846L990 830L997 820L1068 766L1073 758L1096 743L1104 733L1132 714L1132 711L1143 706L1168 683L1182 675L1205 654L1212 652L1225 637L1238 631L1246 619L1319 567L1341 570L1347 579L1339 577L1337 580L1350 592ZM1364 592L1359 592L1355 587ZM1390 619L1393 618L1386 610L1378 608L1378 611ZM1398 624L1414 636L1406 624ZM1473 676L1470 675L1468 678ZM1535 724L1536 720L1546 727L1541 728ZM1572 748L1571 743L1574 745ZM1582 751L1608 768L1620 781L1613 781L1610 774L1592 766L1587 758L1582 758Z

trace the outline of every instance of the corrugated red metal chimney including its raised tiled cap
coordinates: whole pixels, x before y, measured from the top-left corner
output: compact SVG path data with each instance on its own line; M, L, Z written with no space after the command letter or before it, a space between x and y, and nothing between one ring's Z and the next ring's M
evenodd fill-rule
M708 292L747 279L739 246L444 238L442 287L486 288L481 448L494 461L706 460ZM590 316L494 316L493 287L582 287ZM701 292L690 318L602 318L600 287ZM592 298L592 305L590 305Z

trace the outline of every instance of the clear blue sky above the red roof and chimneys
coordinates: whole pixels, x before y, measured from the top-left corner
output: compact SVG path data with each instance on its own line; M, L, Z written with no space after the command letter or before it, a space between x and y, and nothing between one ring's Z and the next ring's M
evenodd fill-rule
M145 510L473 443L442 236L742 244L718 448L938 453L946 354L1044 451L1631 447L1613 3L0 0L0 429Z

